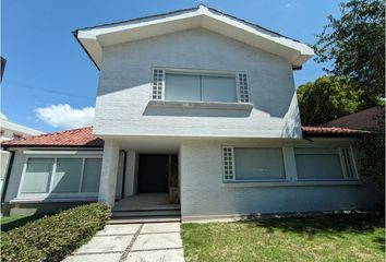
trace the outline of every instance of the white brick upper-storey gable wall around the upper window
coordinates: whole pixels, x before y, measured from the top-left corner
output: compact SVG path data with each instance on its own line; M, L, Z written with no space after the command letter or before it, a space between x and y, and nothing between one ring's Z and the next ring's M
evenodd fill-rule
M244 71L252 110L148 106L152 68ZM117 128L119 127L119 128ZM300 136L291 64L205 29L104 49L94 132L98 135Z

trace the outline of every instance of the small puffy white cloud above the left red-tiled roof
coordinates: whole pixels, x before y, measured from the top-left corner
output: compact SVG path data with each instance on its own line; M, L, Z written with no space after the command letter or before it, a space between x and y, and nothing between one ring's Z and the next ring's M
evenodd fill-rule
M91 126L94 119L94 107L82 109L72 108L70 105L59 104L35 109L36 116L55 128L82 128Z

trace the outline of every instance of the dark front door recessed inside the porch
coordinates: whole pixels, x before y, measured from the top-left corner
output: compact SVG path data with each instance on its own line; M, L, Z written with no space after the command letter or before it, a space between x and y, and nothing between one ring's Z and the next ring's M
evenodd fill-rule
M169 155L141 154L138 164L138 193L167 192Z

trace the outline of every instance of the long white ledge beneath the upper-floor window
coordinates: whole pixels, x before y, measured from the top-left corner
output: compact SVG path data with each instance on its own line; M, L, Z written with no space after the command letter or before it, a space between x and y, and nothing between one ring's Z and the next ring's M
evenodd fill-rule
M149 100L148 106L166 108L205 108L205 109L225 109L225 110L251 110L251 103L227 103L227 102L169 102L169 100Z

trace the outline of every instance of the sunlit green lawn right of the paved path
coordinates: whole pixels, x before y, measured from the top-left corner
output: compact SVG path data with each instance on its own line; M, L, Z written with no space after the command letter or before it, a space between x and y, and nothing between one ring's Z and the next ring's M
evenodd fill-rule
M384 261L384 217L375 214L182 224L186 262Z

